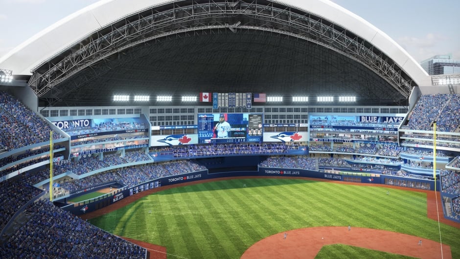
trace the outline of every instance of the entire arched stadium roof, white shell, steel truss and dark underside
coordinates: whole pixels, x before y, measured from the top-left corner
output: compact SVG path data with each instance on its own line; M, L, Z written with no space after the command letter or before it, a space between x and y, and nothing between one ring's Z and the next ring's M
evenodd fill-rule
M100 1L0 64L30 74L28 84L51 106L199 92L400 105L427 76L385 33L326 0Z

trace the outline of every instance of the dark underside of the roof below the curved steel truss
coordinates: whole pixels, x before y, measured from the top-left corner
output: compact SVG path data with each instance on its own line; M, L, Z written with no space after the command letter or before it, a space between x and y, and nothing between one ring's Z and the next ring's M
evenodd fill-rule
M406 99L373 71L315 43L269 31L209 30L174 34L107 57L41 96L40 106L114 105L114 94L178 100L199 92L267 93L285 100L354 95L354 105L401 105Z

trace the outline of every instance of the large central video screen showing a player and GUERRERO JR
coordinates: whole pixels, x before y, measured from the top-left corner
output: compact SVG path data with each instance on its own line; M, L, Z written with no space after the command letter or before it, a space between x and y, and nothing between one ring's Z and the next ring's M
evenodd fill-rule
M262 121L262 114L198 114L198 143L260 142Z

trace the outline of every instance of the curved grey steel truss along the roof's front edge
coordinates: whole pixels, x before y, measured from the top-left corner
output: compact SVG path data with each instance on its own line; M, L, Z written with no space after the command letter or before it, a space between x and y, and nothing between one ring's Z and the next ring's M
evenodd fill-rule
M197 30L268 30L332 49L363 64L406 98L413 80L371 43L311 13L271 1L193 0L166 3L126 17L32 70L29 85L43 96L96 62L123 49Z

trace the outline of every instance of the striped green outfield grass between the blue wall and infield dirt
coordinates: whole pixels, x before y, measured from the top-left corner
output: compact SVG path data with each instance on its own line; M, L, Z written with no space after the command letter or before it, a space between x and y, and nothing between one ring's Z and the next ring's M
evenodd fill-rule
M439 241L425 193L387 190L300 179L223 180L154 193L91 223L187 259L239 259L267 236L317 226L350 224ZM460 230L442 223L440 230L453 258L460 258ZM357 253L351 258L362 258Z

